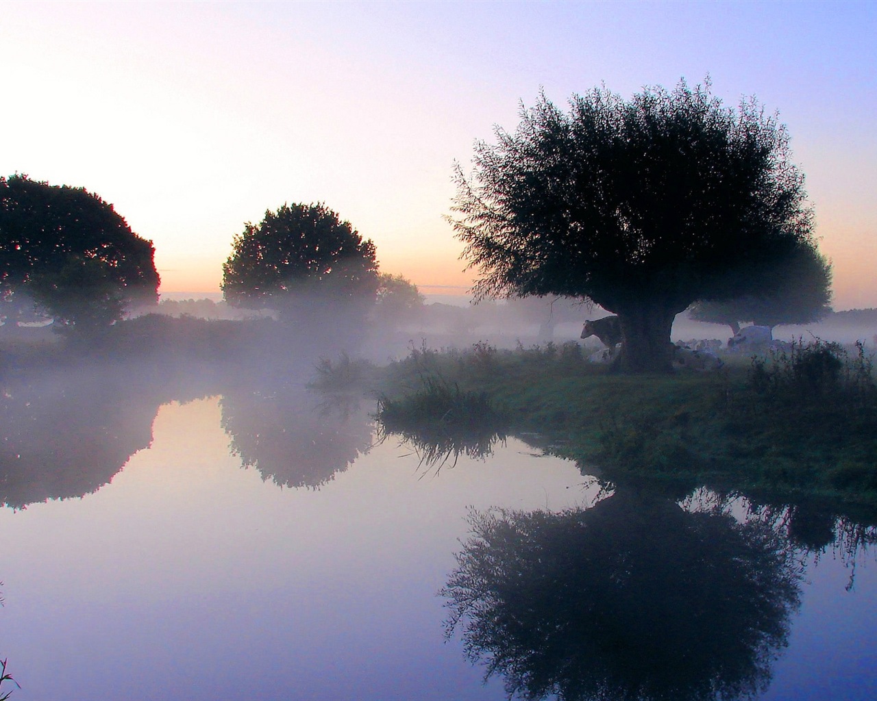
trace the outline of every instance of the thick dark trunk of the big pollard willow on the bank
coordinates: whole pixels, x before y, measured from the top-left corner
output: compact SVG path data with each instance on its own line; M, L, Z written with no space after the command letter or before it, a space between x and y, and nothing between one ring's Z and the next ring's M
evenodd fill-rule
M676 312L662 301L644 301L617 310L622 346L615 362L620 372L673 372L670 330Z

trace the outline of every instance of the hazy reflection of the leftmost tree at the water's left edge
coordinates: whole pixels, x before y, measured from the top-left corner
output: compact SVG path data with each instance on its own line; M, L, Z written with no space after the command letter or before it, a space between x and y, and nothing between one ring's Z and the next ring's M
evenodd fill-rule
M2 383L0 502L81 497L152 443L161 404L132 368L40 373Z

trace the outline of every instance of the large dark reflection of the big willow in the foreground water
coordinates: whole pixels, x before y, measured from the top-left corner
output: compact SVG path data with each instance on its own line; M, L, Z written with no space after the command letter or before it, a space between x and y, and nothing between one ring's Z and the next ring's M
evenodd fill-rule
M759 523L617 492L588 510L474 512L443 594L448 634L510 696L751 697L799 602Z

